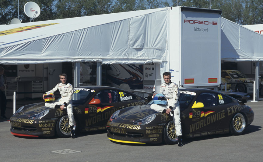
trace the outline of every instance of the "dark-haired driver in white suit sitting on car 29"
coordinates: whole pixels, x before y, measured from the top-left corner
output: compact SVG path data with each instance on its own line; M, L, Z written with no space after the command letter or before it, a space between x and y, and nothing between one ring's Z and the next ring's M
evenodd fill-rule
M179 106L179 87L176 83L173 83L171 81L171 73L169 72L165 72L163 73L163 79L164 79L164 83L161 84L160 86L160 93L162 93L166 99L167 99L167 104L169 108L166 108L165 113L169 114L172 110L174 111L174 124L175 124L175 130L176 130L176 135L178 137L178 146L183 146L182 143L182 128L181 128L181 119L180 119L180 106ZM155 93L153 95L153 97L156 95L157 93ZM157 108L159 106L159 108ZM152 108L152 106L151 106ZM160 105L156 105L153 106L152 109L154 109L157 111L162 112L162 110L159 110L161 108L163 108L163 106Z

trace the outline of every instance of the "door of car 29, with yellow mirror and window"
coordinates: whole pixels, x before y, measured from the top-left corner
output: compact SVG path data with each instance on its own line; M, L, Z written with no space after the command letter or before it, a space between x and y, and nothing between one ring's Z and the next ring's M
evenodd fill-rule
M189 118L185 133L207 132L216 130L219 126L223 112L218 105L218 96L214 92L200 93L189 108Z

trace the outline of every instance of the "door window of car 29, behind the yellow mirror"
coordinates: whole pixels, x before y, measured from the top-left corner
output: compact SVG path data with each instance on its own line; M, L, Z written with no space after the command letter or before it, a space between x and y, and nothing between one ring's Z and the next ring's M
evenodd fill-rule
M196 103L201 102L204 107L211 107L217 105L216 94L215 93L201 93L196 98Z

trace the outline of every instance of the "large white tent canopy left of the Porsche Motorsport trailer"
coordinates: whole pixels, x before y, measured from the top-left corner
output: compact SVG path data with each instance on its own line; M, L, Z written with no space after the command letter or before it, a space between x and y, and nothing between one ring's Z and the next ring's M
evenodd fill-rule
M0 63L167 63L169 8L0 27Z

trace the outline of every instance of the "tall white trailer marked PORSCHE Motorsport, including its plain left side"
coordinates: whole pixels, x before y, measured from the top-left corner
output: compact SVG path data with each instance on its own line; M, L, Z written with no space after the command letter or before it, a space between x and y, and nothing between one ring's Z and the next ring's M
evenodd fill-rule
M168 51L172 81L217 90L221 83L221 10L171 7ZM160 69L156 67L155 69ZM156 73L156 87L163 82ZM160 76L160 78L157 78Z

